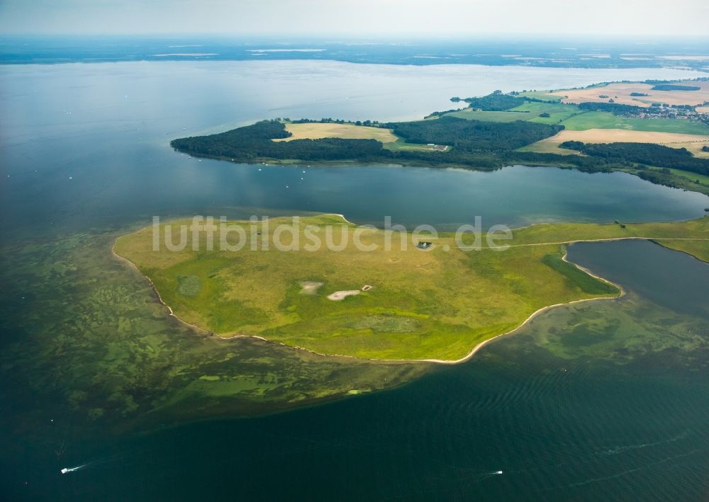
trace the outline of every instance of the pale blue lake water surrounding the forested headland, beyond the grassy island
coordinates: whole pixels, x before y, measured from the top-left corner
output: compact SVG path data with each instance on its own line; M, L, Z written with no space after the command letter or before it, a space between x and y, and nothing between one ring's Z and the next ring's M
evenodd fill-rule
M258 171L191 159L168 145L174 137L263 118L413 119L451 108L450 96L680 76L695 74L308 61L6 66L0 69L1 228L81 230L152 215L239 215L238 207L338 212L374 224L383 224L385 215L403 224L439 225L481 216L484 224L510 226L697 217L705 196L621 173L383 166Z

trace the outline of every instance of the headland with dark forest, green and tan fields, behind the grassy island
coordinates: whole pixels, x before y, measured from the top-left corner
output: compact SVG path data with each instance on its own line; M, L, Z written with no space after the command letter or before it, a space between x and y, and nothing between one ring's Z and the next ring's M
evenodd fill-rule
M242 163L364 162L479 170L525 164L623 171L709 194L709 113L701 102L702 96L709 98L709 81L692 82L701 92L652 91L646 83L495 91L452 98L468 103L467 108L434 112L425 120L263 120L170 144L185 154Z

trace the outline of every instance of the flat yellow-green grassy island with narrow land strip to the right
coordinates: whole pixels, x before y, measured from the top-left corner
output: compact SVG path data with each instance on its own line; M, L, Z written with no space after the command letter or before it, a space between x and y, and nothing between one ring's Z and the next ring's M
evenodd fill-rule
M178 225L190 223L172 223L173 243L180 241ZM114 251L150 278L163 302L189 324L223 337L259 336L316 353L372 359L458 360L539 309L618 295L613 285L563 260L568 241L709 239L709 218L535 225L515 230L513 239L493 248L482 239L479 251L459 249L450 234L433 239L362 229L336 215L303 217L298 224L272 219L268 227L230 224L245 234L238 251L219 250L220 237L208 250L205 232L195 241L186 232L182 251L153 251L151 227L117 239ZM327 228L340 249L308 249L313 234L325 242ZM167 232L164 224L160 230ZM355 234L376 249L358 249ZM232 231L227 244L238 244L237 237ZM420 241L433 244L422 250ZM279 251L278 242L301 251ZM510 247L501 251L500 244ZM706 246L693 249L705 253Z

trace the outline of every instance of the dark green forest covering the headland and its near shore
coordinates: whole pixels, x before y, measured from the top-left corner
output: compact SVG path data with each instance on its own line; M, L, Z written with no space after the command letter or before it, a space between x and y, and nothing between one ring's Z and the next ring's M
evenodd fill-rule
M368 121L369 122L369 121ZM373 124L374 122L369 122ZM519 152L526 145L552 137L563 125L537 122L484 122L443 116L435 120L378 123L407 144L437 144L451 148L442 151L387 149L376 139L293 139L283 122L263 120L215 135L174 139L170 144L179 152L241 163L358 161L412 166L451 167L493 170L513 164L550 165L586 172L627 171L653 183L691 188L709 193L698 180L676 176L669 168L709 175L709 159L692 156L684 149L645 143L584 144L564 142L561 147L582 154L559 155ZM653 169L659 168L659 169Z

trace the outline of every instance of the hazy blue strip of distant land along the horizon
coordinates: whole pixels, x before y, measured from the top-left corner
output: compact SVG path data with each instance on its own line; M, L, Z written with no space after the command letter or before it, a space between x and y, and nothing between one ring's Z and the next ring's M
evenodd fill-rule
M596 40L570 35L552 43L539 44L538 37L499 38L494 47L489 40L445 40L440 38L408 40L383 38L374 43L360 43L357 38L340 42L324 39L307 41L274 37L216 37L204 35L185 38L141 35L4 35L0 64L62 64L67 62L135 62L158 60L182 61L276 61L306 60L347 62L353 64L391 64L430 66L440 64L477 64L491 67L636 69L672 70L681 64L689 70L703 70L707 52L687 50L681 38L658 37L642 57L628 57L637 52L632 42L616 41L603 51ZM651 38L652 40L652 38ZM116 43L116 42L119 43ZM123 42L123 43L121 43ZM126 43L130 42L130 43ZM284 44L288 47L284 49ZM128 47L128 48L126 48ZM194 52L190 52L194 51ZM609 53L610 52L610 53ZM625 54L625 56L624 56ZM61 55L61 57L57 57Z

